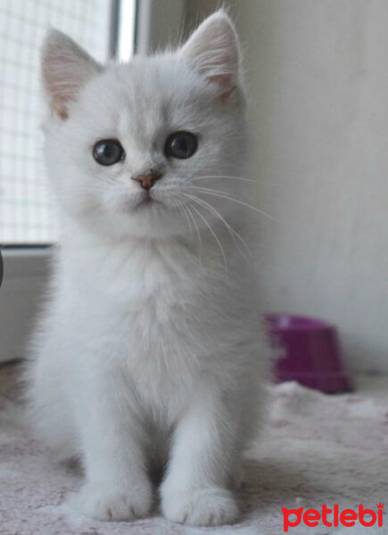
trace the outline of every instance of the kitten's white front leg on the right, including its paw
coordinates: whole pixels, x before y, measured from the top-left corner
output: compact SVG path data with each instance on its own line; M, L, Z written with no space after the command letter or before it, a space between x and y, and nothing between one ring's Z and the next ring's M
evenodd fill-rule
M229 405L215 385L198 389L177 424L161 485L161 508L169 520L198 526L235 520L237 506L227 484L241 438L238 420L238 407Z

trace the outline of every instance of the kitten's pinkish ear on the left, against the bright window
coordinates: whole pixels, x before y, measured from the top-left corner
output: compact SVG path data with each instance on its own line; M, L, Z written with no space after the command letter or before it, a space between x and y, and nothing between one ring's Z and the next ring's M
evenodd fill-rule
M57 29L49 31L42 47L42 75L51 108L61 119L67 119L68 104L100 70L102 66L70 37Z

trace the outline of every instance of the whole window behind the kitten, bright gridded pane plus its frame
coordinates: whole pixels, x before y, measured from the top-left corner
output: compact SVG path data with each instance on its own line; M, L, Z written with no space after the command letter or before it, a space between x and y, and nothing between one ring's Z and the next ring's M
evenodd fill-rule
M57 239L39 123L39 47L53 26L97 60L128 61L163 44L183 21L182 0L0 1L0 363L22 358ZM156 36L156 37L154 37ZM38 247L37 247L38 245ZM18 247L16 247L18 246Z

